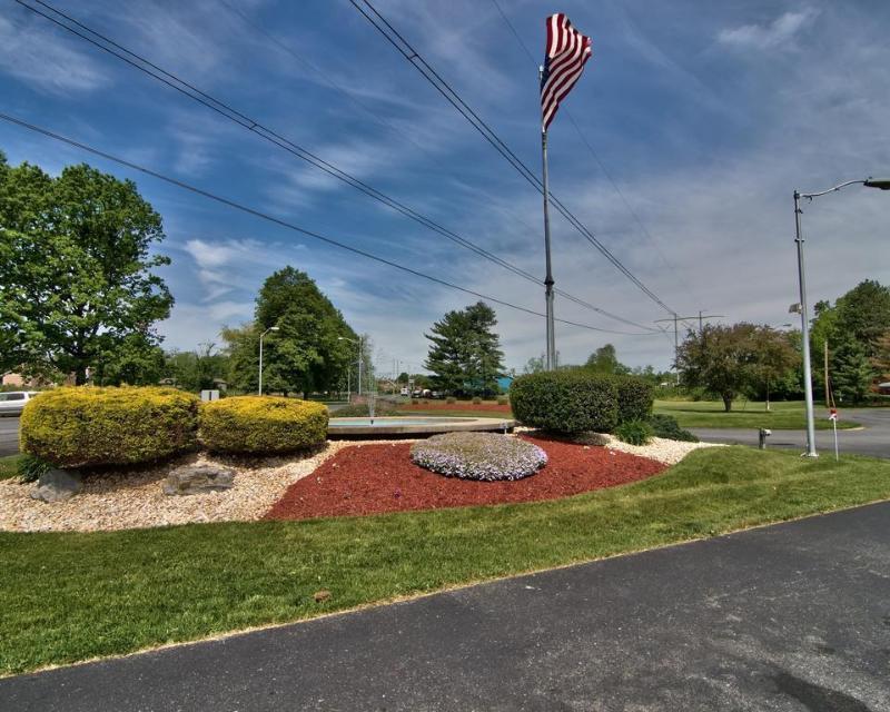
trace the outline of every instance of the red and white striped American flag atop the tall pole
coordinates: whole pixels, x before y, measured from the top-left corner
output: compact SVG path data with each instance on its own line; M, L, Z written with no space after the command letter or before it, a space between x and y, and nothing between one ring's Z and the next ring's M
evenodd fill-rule
M546 22L547 50L541 75L541 121L545 131L593 53L591 38L573 28L565 14L552 14Z

